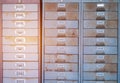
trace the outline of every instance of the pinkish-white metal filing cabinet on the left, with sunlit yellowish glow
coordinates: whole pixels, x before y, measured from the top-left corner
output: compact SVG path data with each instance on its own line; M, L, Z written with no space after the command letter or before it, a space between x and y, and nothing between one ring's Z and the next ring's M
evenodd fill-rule
M39 0L2 2L3 83L41 80L39 14Z

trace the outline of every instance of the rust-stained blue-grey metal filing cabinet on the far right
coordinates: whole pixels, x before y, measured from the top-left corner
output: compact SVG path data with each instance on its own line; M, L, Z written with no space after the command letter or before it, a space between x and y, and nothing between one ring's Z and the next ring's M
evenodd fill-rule
M117 5L117 0L83 1L83 83L117 83Z

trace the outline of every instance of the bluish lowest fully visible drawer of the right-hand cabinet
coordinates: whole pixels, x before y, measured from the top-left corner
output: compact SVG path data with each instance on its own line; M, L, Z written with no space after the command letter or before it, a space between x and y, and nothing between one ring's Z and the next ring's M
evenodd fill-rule
M84 72L84 80L117 80L117 73Z

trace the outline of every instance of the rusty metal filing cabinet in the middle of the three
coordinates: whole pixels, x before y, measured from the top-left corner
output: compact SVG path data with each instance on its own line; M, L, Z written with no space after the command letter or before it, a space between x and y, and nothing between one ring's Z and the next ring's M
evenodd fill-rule
M43 83L79 83L79 2L43 1Z

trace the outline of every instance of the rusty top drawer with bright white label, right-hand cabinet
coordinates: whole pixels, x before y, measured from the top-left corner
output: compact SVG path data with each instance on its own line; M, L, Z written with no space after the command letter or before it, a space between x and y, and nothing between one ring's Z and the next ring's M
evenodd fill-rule
M85 3L83 8L84 11L117 11L117 6L117 3Z

